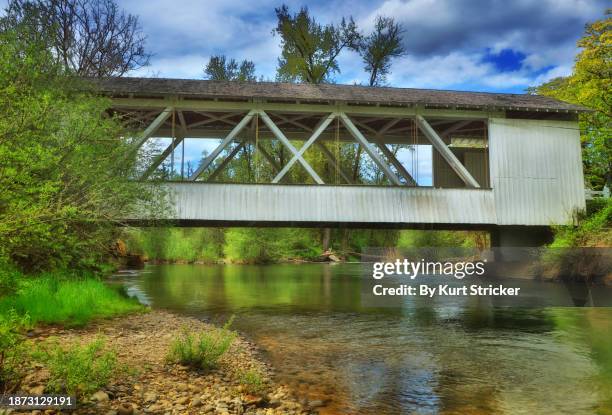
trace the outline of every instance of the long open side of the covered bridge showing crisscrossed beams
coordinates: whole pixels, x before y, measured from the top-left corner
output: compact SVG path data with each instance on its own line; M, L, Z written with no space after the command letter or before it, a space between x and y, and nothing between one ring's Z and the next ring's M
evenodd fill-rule
M486 120L255 110L175 111L139 150L143 178L435 188L489 188L488 153Z

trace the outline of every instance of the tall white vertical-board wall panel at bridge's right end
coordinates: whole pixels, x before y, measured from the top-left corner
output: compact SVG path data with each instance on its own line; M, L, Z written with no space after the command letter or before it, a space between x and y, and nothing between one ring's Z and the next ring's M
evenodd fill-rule
M576 122L495 118L489 140L499 225L568 224L584 209Z

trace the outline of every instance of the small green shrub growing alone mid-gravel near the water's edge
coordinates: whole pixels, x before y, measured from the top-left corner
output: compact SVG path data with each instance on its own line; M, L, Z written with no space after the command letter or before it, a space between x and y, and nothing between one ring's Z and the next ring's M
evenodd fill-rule
M236 339L236 333L229 328L234 318L230 318L223 327L212 328L200 333L183 329L180 336L172 343L168 360L197 369L213 369L229 350Z

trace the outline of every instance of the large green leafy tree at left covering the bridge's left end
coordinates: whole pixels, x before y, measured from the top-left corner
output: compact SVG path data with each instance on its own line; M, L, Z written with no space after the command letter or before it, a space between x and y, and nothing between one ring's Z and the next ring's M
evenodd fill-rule
M0 259L27 271L95 270L122 218L165 200L129 180L127 132L64 72L48 34L0 31ZM162 203L158 203L162 201Z

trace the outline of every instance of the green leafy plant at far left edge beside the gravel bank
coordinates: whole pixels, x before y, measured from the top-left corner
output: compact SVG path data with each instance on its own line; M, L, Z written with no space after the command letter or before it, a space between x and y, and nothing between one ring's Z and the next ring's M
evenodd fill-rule
M27 352L21 331L28 325L28 316L19 316L15 310L0 314L0 392L2 393L13 391L23 375L22 366Z

